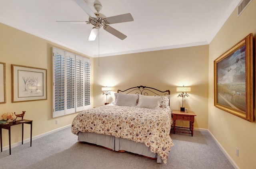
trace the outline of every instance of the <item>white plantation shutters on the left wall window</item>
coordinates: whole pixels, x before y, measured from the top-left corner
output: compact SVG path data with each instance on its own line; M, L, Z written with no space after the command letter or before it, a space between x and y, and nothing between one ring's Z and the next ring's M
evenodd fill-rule
M53 117L90 108L90 59L53 48Z

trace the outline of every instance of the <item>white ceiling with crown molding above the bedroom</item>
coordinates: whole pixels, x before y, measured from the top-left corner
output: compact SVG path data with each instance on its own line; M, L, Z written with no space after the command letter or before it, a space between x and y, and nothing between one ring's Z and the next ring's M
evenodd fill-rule
M85 0L96 12L94 0ZM88 41L90 24L74 0L0 0L0 22L91 57L209 44L240 0L100 0L106 17L130 13L133 22L111 24L120 40L100 29ZM100 45L100 48L98 47Z

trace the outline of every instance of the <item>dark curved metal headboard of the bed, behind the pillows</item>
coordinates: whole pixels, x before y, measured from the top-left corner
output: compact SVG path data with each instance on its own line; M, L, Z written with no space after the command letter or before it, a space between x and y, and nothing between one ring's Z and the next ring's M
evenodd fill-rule
M141 89L142 88L142 89ZM170 95L170 90L166 90L166 91L161 91L161 90L158 90L156 88L152 88L152 87L147 87L147 86L136 86L136 87L131 87L131 88L128 88L126 90L120 90L118 89L117 92L120 93L120 92L126 92L126 94L129 94L131 92L135 92L135 94L142 94L142 95L148 95L147 91L150 91L158 96L160 96L160 94L158 94L156 91L158 92L161 92L163 93L165 96L167 95Z

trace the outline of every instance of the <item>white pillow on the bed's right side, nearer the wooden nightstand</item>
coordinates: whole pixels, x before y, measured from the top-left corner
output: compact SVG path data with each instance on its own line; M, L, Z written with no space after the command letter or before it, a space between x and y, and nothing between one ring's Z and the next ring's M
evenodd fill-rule
M161 103L161 97L139 95L138 107L158 108Z

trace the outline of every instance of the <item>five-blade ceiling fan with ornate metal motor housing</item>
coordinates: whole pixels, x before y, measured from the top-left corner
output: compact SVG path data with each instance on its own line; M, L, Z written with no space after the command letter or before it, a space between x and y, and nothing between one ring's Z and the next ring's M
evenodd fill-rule
M88 21L56 21L59 23L72 23L72 24L92 24L94 27L92 28L92 31L89 35L88 41L94 41L96 39L96 36L98 35L98 31L101 27L112 35L118 37L121 40L124 40L127 36L121 33L120 31L112 28L108 24L116 24L116 23L122 23L122 22L130 22L133 21L132 15L130 13L128 14L122 14L117 16L111 16L106 17L103 14L99 13L102 9L102 5L98 0L95 0L94 2L94 8L97 11L96 13L92 12L92 10L89 8L89 6L86 4L84 0L74 0L78 6L86 12L89 16Z

